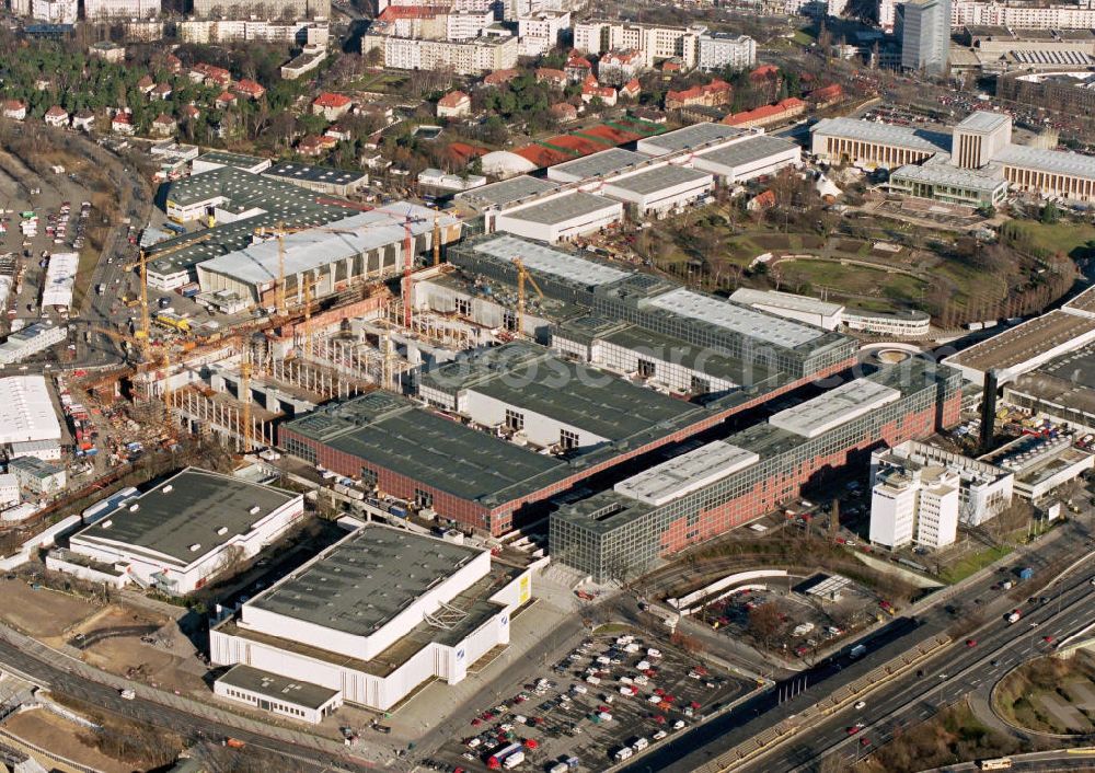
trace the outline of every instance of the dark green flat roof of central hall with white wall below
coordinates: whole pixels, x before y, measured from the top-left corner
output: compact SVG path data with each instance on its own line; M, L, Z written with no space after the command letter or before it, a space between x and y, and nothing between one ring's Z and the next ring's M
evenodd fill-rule
M448 393L485 394L611 441L666 435L703 413L691 403L523 343L447 362L423 373L420 382Z

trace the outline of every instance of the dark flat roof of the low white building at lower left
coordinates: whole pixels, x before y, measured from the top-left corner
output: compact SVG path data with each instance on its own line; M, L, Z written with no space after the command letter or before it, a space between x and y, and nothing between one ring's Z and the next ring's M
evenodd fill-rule
M187 468L72 539L126 545L185 566L246 534L256 521L298 496L232 475Z

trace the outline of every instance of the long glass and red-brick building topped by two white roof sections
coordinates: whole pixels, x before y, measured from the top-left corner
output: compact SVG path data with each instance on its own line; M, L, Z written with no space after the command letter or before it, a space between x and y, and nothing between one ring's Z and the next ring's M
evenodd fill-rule
M551 515L555 561L634 577L799 495L821 471L958 420L957 371L910 359L774 414Z

